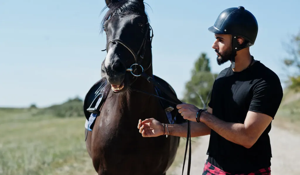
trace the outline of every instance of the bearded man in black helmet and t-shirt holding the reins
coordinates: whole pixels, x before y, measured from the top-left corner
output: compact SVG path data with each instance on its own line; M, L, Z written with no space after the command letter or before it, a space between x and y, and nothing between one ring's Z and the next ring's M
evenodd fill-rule
M231 65L217 76L206 111L177 105L183 118L192 121L191 137L210 134L203 174L270 174L268 133L283 90L278 76L250 55L256 19L244 7L228 8L208 30L216 38L212 48L218 65ZM143 137L187 135L186 123L167 127L153 118L138 123Z

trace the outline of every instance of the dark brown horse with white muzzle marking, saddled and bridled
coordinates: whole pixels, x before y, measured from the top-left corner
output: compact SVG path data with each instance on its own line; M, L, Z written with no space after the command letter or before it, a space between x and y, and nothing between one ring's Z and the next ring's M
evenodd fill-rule
M180 137L142 137L138 121L186 121L171 103L170 95L177 97L172 86L153 75L153 29L146 3L105 2L108 11L101 32L106 34L107 55L101 63L101 80L91 87L84 100L88 154L99 175L165 175L176 157Z

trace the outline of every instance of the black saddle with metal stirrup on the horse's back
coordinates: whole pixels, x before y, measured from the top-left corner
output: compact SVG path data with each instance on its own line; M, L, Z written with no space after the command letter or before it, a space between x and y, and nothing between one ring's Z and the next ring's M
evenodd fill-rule
M158 82L164 89L177 97L176 92L169 83L155 75L153 75L153 79ZM85 114L85 118L89 121L90 129L94 127L95 117L100 115L100 108L107 98L107 94L104 91L106 85L107 82L102 78L101 80L96 82L85 95L83 111ZM172 101L172 99L167 94L162 92L158 87L155 86L155 90L158 97ZM182 116L178 113L176 104L173 104L161 98L159 98L159 101L161 107L165 110L169 124L181 124L186 122L186 120L183 119ZM90 117L92 117L93 119L90 120Z

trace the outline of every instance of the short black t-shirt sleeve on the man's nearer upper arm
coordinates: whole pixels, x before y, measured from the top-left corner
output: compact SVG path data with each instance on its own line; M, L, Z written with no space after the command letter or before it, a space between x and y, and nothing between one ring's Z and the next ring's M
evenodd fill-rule
M280 83L262 81L253 88L249 111L264 113L274 119L282 97Z

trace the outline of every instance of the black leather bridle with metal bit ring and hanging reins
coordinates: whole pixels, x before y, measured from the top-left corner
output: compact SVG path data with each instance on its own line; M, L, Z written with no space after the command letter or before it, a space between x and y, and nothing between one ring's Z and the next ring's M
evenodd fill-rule
M105 50L108 52L108 47L109 47L110 44L112 44L112 43L116 43L116 42L117 42L117 43L122 44L125 48L127 48L127 49L131 52L131 54L134 56L134 59L135 59L135 63L132 64L132 65L130 66L130 68L127 68L126 71L131 72L131 74L135 77L135 80L137 79L137 77L140 77L140 76L143 77L143 78L145 78L146 80L148 80L149 83L152 83L154 86L159 87L159 89L160 89L161 91L163 91L165 94L167 94L170 98L172 98L173 101L172 101L172 100L165 99L165 98L162 98L162 97L159 97L159 96L157 96L157 95L154 95L154 94L151 94L151 93L148 93L148 92L144 92L144 91L138 90L138 89L133 89L133 88L131 88L132 90L137 91L137 92L142 92L142 93L145 93L145 94L148 94L148 95L155 96L155 97L157 97L157 98L160 98L160 99L169 101L169 102L171 102L171 103L173 103L173 104L176 104L176 105L177 105L177 104L182 104L182 102L181 102L175 95L173 95L172 93L170 93L169 91L167 91L163 86L161 86L158 82L156 82L151 76L149 76L149 75L147 75L147 74L145 73L145 71L146 71L147 69L149 69L150 66L151 66L151 63L152 63L152 55L151 55L150 64L149 64L149 66L148 66L146 69L144 69L143 66L141 65L141 62L143 61L144 55L145 55L145 52L146 52L146 44L147 44L147 34L148 34L148 32L149 32L150 30L152 30L152 36L150 37L150 38L151 38L151 39L150 39L150 45L152 44L152 38L153 38L153 36L154 36L154 35L153 35L153 29L152 29L152 27L150 26L149 22L146 23L146 27L145 27L145 28L146 28L147 30L146 30L146 32L145 32L144 39L143 39L143 42L142 42L142 44L141 44L141 46L140 46L140 49L138 50L137 53L135 53L134 50L132 50L132 49L128 46L128 44L125 44L125 42L123 42L123 41L120 40L120 39L113 39L113 40L110 40L110 41L107 43L107 47L106 47ZM101 51L105 51L105 50L101 50ZM141 55L140 55L140 53L141 53ZM138 58L139 58L139 55L140 55L140 58L141 58L141 59L140 59L139 63L137 63L137 60L138 60ZM135 69L133 68L133 66L135 66ZM134 74L134 72L137 70L137 69L136 69L137 66L140 66L140 68L142 69L142 73L140 73L140 74ZM134 81L135 81L135 80L134 80ZM133 82L132 82L132 83L133 83ZM132 83L131 83L131 84L132 84ZM189 121L189 120L187 120L187 142L186 142L185 152L184 152L184 160L183 160L183 167L182 167L182 175L183 175L183 171L184 171L184 164L185 164L185 158L186 158L186 154L187 154L187 146L188 146L188 143L190 144L190 147L189 147L188 166L187 166L187 174L189 175L189 174L190 174L190 162L191 162L191 138L190 138L190 121Z

